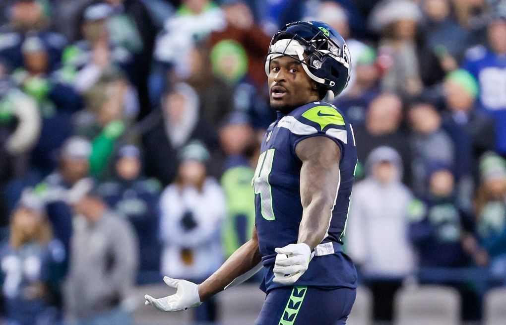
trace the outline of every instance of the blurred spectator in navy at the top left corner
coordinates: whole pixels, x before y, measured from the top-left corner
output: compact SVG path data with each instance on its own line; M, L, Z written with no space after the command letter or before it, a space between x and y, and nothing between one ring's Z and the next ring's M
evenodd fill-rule
M23 65L21 47L29 36L37 36L44 43L50 70L60 62L67 40L49 30L50 19L45 9L42 2L36 0L16 0L12 4L9 24L0 29L0 58L7 62L10 69Z

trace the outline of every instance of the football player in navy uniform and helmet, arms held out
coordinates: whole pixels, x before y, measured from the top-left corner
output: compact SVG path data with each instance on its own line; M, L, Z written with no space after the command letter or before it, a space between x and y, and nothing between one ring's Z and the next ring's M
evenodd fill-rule
M164 277L177 293L146 295L146 304L197 306L264 267L257 325L346 323L357 274L342 240L357 152L351 125L328 102L348 84L350 65L345 40L325 23L294 22L273 36L265 69L278 117L252 180L252 238L199 285Z

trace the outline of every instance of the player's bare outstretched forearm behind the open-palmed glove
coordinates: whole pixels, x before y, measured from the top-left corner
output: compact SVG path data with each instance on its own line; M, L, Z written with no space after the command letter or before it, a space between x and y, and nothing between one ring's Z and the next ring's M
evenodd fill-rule
M237 249L227 261L198 286L200 301L223 291L236 277L246 273L260 263L258 241L250 239Z

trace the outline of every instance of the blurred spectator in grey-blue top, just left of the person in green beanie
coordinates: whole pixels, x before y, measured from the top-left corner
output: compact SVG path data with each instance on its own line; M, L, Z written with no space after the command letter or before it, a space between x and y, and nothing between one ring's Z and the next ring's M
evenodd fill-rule
M448 134L441 128L441 116L434 105L415 101L408 110L411 126L412 189L416 196L428 194L427 179L433 161L453 166L455 149Z

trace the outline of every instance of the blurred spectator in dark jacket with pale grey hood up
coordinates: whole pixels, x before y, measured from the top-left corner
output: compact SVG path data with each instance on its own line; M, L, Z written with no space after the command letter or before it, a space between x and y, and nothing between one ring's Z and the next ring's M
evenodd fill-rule
M193 88L179 83L163 95L161 116L145 135L146 175L156 177L163 186L174 181L178 169L178 152L190 140L216 146L216 136L205 121L199 119L199 100Z

